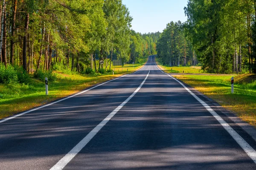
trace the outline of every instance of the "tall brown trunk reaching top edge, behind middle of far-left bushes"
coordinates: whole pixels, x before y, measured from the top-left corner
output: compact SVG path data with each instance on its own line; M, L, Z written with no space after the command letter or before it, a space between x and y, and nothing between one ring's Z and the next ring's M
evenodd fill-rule
M14 33L15 33L15 21L16 21L16 11L17 11L17 0L13 0L13 6L12 6L12 31L11 31L11 49L10 49L10 62L13 65L14 64Z

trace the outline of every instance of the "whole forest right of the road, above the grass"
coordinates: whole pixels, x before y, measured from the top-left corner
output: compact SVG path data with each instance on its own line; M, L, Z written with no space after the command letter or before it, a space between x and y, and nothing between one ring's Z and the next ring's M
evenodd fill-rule
M164 64L256 73L255 0L188 0L184 10L187 21L167 24L157 42Z

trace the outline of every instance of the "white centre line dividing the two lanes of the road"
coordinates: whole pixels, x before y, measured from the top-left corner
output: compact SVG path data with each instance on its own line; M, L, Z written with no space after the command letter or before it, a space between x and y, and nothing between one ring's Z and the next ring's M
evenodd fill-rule
M82 139L75 147L73 147L72 150L70 150L67 155L65 155L61 160L57 162L50 170L62 170L75 156L77 153L80 152L81 149L85 147L85 145L90 142L91 139L101 130L103 126L108 123L108 121L140 90L140 88L145 83L146 79L148 78L148 75L150 73L150 70L148 71L147 76L143 80L143 82L140 84L140 86L134 91L131 96L129 96L124 102L122 102L121 105L119 105L115 110L113 110L102 122L99 123L90 133L88 133L84 139Z

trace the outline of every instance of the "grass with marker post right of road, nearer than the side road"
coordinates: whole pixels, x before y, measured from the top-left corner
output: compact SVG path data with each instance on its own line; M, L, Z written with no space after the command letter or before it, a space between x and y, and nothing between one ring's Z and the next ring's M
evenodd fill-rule
M234 94L230 78L234 76ZM256 127L256 75L174 75Z

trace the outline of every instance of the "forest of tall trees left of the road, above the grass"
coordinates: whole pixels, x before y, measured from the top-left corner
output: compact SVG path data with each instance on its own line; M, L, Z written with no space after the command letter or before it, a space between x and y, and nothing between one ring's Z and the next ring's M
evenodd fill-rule
M0 4L2 83L12 77L3 75L11 70L36 74L64 68L88 74L111 70L113 59L125 64L156 54L160 33L131 30L132 17L122 0L1 0ZM106 63L104 68L99 60Z

